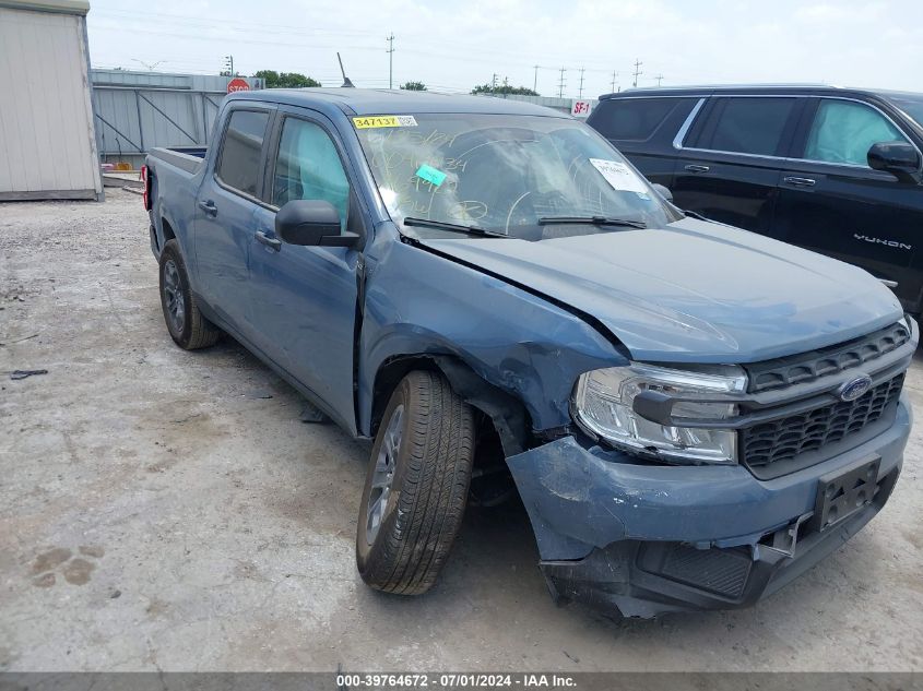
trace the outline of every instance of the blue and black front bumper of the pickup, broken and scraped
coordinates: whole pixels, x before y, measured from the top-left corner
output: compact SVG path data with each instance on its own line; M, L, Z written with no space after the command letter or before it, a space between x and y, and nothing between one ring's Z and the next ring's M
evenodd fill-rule
M507 458L552 594L626 617L752 605L857 533L895 487L910 433L891 427L838 456L759 480L743 466L642 465L573 437ZM818 532L818 481L879 457L873 501Z

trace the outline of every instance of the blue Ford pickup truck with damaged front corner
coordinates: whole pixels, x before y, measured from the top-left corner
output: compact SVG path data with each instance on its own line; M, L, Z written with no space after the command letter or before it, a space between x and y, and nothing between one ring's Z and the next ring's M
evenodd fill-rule
M472 478L505 476L554 596L744 607L898 479L919 330L894 294L685 214L561 114L237 93L203 158L149 155L144 200L173 339L227 333L374 440L374 588L426 592Z

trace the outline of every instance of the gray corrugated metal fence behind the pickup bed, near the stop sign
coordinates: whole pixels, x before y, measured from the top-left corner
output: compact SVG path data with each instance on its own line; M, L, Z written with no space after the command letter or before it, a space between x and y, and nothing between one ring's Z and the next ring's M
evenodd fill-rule
M227 76L93 70L96 139L103 162L140 166L155 146L205 146ZM262 80L247 79L251 88Z

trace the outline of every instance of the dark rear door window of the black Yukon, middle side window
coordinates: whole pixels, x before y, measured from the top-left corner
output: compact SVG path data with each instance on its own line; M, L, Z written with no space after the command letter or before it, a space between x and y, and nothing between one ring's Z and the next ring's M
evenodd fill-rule
M781 155L794 98L719 98L696 146L762 156Z

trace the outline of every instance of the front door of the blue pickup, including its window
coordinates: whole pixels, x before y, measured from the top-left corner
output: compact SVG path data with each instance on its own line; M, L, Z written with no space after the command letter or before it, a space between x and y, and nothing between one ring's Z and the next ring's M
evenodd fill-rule
M250 321L257 345L355 431L353 343L356 267L360 252L344 247L300 247L275 235L277 212L298 199L324 200L351 217L351 184L335 130L322 116L280 112L270 142L264 199L250 249ZM355 205L354 205L355 207Z

